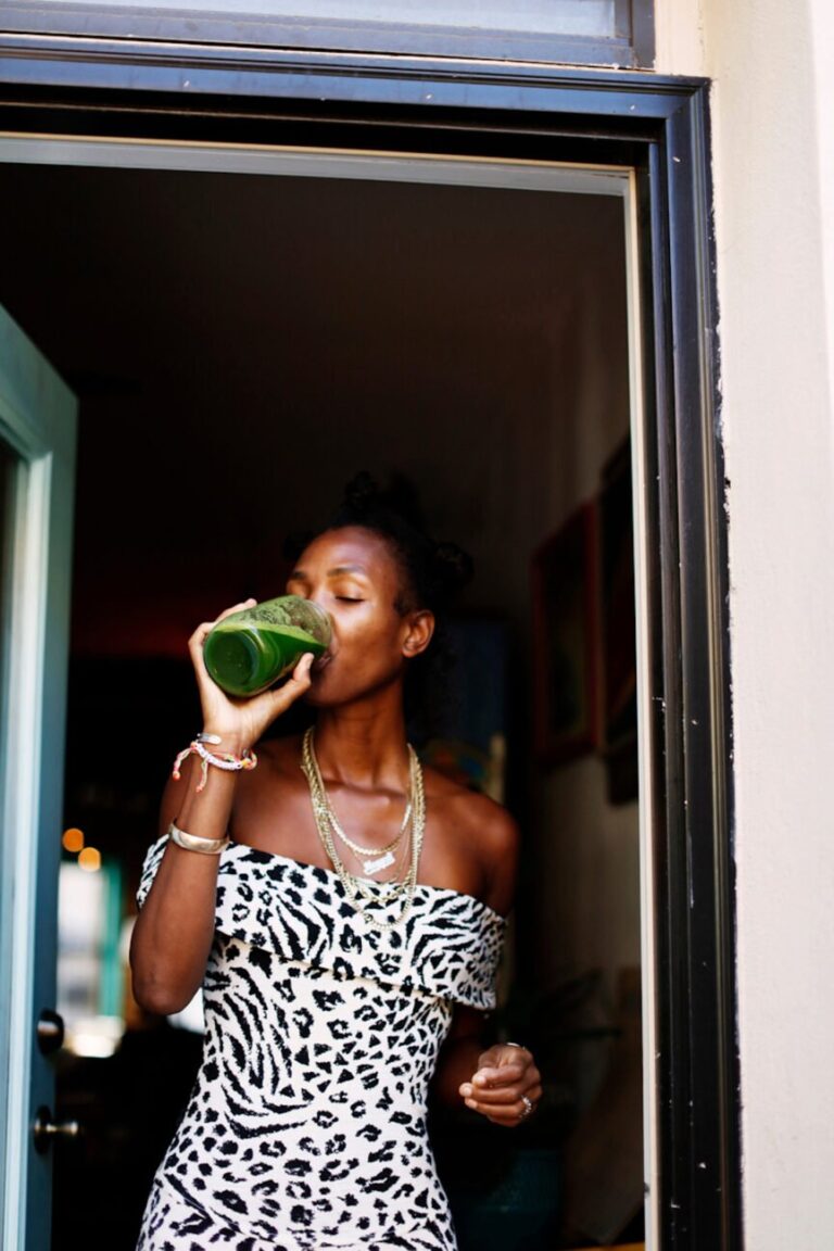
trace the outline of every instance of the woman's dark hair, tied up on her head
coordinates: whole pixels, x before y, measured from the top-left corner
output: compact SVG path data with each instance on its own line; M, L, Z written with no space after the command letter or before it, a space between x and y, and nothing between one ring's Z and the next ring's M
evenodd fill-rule
M393 475L386 488L366 470L348 482L341 502L318 529L295 533L285 555L296 560L319 534L359 525L384 538L400 567L400 590L394 603L401 614L428 608L435 631L426 651L408 667L405 716L409 736L425 741L436 729L448 703L449 678L455 656L449 637L450 610L471 580L471 558L455 543L438 542L429 533L411 483Z

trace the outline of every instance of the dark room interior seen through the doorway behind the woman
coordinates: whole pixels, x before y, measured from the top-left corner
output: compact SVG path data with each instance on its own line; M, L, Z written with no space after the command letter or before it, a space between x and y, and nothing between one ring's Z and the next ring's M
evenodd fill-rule
M54 1248L130 1251L200 1043L126 943L186 641L284 590L366 469L474 559L424 758L523 829L499 1037L518 1132L436 1115L461 1251L643 1240L640 844L623 200L18 165L0 303L76 393ZM289 724L289 722L288 722ZM478 1121L475 1125L474 1121ZM461 1146L464 1150L461 1150Z

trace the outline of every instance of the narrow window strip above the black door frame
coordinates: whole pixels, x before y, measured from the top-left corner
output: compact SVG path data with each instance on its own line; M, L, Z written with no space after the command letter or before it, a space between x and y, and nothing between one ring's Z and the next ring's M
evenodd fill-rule
M291 49L653 63L653 0L0 0L3 29Z

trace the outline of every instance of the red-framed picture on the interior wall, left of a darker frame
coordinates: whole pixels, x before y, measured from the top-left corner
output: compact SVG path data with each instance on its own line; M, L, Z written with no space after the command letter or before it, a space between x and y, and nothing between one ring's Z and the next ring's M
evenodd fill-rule
M599 741L596 509L581 504L533 558L536 754L555 764Z

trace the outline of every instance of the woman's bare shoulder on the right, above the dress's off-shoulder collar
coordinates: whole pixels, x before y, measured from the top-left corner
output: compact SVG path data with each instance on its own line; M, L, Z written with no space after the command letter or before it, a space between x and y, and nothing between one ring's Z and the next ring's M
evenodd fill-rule
M450 778L425 771L426 799L446 837L480 869L483 898L496 912L513 906L520 831L515 818L495 799Z

